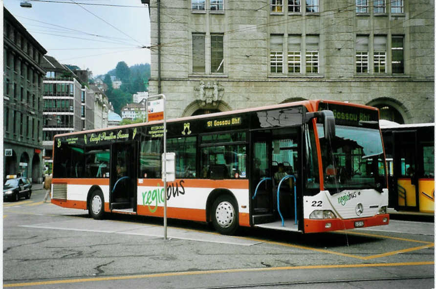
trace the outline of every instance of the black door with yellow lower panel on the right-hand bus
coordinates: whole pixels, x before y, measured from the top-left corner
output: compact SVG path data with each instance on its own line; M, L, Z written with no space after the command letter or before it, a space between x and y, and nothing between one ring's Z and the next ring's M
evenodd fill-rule
M397 208L419 210L419 192L416 131L394 131L393 174L394 194L398 198Z

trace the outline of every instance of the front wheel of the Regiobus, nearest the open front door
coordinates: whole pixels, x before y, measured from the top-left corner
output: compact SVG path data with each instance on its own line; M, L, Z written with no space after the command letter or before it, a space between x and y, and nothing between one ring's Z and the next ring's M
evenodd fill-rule
M239 226L238 206L234 198L221 195L212 205L212 223L219 233L233 235Z

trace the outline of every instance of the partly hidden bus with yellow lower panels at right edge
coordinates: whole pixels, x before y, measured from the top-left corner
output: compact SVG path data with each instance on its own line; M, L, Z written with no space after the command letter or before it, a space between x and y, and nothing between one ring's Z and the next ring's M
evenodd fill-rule
M389 207L435 212L435 123L380 124L386 150Z

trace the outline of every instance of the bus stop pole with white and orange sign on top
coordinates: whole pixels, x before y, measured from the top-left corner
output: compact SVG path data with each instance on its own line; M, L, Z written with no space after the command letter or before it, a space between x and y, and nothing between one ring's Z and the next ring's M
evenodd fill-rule
M165 111L166 97L165 94L156 94L147 98L147 121L161 120L164 121L164 153L162 166L162 180L164 182L164 239L167 240L167 114Z

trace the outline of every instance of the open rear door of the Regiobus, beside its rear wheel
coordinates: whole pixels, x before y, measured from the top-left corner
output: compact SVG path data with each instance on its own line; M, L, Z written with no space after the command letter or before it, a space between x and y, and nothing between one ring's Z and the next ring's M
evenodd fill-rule
M135 142L114 143L110 148L110 209L136 211L137 145Z

